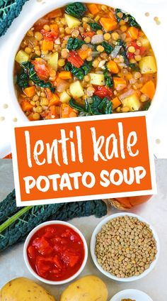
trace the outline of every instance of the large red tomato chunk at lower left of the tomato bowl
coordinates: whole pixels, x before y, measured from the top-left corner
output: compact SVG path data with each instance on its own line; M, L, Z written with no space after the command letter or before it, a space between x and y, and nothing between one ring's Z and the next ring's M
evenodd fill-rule
M46 276L52 269L52 258L38 256L35 266L40 276Z

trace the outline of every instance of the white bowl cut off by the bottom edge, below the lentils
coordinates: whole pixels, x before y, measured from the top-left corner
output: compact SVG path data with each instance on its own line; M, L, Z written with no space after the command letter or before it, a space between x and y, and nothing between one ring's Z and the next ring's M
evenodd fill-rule
M122 299L132 299L136 301L153 301L149 295L146 295L142 290L122 290L121 292L117 292L110 301L120 301Z

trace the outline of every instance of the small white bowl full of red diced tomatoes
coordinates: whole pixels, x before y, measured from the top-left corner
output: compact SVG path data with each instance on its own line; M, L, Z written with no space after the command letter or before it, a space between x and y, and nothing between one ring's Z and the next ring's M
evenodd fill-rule
M46 221L25 240L25 265L30 273L51 285L74 280L86 265L88 247L84 235L66 221Z

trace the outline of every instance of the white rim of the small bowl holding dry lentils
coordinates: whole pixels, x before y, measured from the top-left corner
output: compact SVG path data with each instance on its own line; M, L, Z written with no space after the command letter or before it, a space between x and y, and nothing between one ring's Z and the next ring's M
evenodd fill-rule
M139 219L139 221L143 221L146 224L149 224L148 221L146 221L142 217L139 217L139 215L132 214L132 213L129 213L129 212L120 212L120 213L112 214L109 217L106 217L105 219L103 219L103 221L101 221L98 224L98 226L96 226L96 228L94 229L93 234L91 236L91 257L92 257L93 262L95 263L96 267L98 268L98 270L100 270L100 272L103 273L108 278L116 280L116 281L120 281L120 282L131 282L131 281L142 279L147 274L149 274L151 272L151 270L153 270L154 266L156 266L156 262L158 261L158 258L159 258L159 250L160 250L159 237L157 236L156 231L154 230L154 228L150 224L149 224L149 227L150 227L150 229L153 232L154 239L156 240L156 248L157 248L156 258L151 263L151 265L149 266L149 268L147 270L144 270L144 272L142 274L140 274L139 276L132 276L132 277L129 277L129 278L117 278L115 275L112 275L112 274L106 272L105 270L103 270L103 268L99 265L99 263L97 261L96 253L95 253L96 235L100 232L101 227L104 224L106 224L108 221L110 221L111 219L115 219L115 217L124 217L125 215L128 216L128 217L137 217L137 219Z

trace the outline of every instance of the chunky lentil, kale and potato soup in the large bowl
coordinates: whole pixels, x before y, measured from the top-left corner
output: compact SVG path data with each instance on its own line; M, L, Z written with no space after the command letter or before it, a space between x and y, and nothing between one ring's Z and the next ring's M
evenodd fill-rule
M129 13L79 2L40 18L14 67L30 121L147 110L156 75L149 40Z

